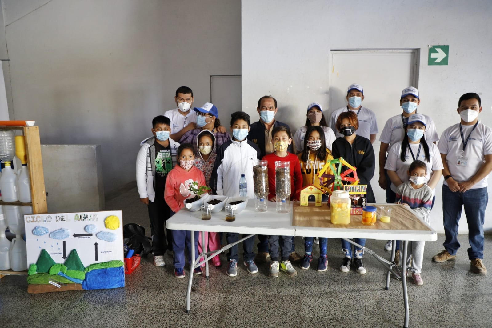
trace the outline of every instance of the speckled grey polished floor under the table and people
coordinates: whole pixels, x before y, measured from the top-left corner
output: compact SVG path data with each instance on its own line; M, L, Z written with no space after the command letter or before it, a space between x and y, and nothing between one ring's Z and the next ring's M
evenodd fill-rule
M147 209L138 202L136 189L107 201L106 207L123 209L124 223L139 223L150 233ZM408 280L410 327L492 327L492 272L478 276L469 271L466 235L460 235L462 247L456 261L432 263L431 257L442 249L443 239L439 235L437 241L426 244L422 273L425 285L416 286ZM383 250L383 240L368 240L366 246L389 256ZM302 238L296 238L296 249L304 254ZM125 288L113 290L30 295L25 277L6 276L0 281L0 327L403 325L401 283L392 279L386 291L385 271L369 254L364 260L367 274L339 271L337 239L329 239L326 272L297 267L296 277L280 272L274 279L268 277L267 265L260 265L254 275L240 265L238 275L231 278L225 274L225 264L212 267L208 280L203 276L194 280L189 314L184 311L187 279L176 279L171 256L166 255L165 260L167 266L156 268L149 256L127 276ZM484 263L492 270L491 235L486 236Z

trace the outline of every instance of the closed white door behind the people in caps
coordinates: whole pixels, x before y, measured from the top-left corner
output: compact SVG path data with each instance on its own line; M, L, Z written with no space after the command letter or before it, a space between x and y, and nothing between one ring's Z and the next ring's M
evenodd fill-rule
M374 178L371 180L376 202L385 203L379 187L379 135L386 120L401 113L401 90L418 88L418 50L350 50L331 51L329 113L346 106L347 88L352 83L364 89L362 106L374 112L379 133L372 145L376 156Z

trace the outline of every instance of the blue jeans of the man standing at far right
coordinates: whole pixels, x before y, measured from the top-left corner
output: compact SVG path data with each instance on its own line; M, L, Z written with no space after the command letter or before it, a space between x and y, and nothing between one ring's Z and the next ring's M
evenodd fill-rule
M451 255L456 255L458 242L458 221L464 208L468 223L468 258L484 258L484 221L485 209L489 201L487 187L469 189L463 193L452 192L447 185L442 185L442 214L444 216L444 233L446 240L442 244Z

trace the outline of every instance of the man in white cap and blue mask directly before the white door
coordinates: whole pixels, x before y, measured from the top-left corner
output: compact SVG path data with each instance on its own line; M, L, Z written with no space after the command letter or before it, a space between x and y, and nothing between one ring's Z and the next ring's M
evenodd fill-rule
M335 135L338 137L343 137L343 135L337 129L337 119L342 112L353 111L357 114L357 119L359 119L359 128L356 130L357 134L361 137L367 138L372 144L376 140L377 122L376 115L366 107L362 107L361 103L364 100L364 89L360 84L352 84L347 90L347 106L338 108L332 113L329 126L332 128Z

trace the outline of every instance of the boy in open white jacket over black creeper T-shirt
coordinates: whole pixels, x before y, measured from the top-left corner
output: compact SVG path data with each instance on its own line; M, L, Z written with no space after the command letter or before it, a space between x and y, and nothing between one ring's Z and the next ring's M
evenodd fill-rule
M152 120L154 136L140 143L137 155L137 189L140 202L147 205L151 222L152 251L154 266L163 267L166 249L172 251L171 231L164 234L166 220L171 214L164 201L164 187L169 171L176 164L176 154L180 144L169 138L171 121L159 115Z

